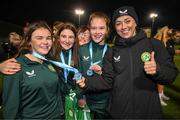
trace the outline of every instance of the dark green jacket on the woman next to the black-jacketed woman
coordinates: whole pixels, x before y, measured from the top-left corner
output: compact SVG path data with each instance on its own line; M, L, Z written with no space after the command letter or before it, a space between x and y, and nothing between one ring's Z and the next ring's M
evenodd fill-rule
M89 45L90 43L85 44L81 46L79 50L79 71L83 74L84 77L87 77L87 70L91 65ZM97 43L92 41L93 63L103 59L102 58L103 49L104 49L104 45L98 45ZM102 67L102 62L100 62L98 65ZM90 110L102 114L105 113L105 109L108 104L109 95L110 95L109 91L86 94L86 100Z

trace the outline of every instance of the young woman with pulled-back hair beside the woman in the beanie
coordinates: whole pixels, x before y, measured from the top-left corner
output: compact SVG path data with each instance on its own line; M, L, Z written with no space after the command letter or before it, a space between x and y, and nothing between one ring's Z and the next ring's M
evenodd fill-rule
M94 12L89 17L91 42L81 46L79 51L79 71L85 77L102 73L102 60L108 49L105 41L109 34L109 23L109 18L102 12ZM107 118L108 91L89 93L85 97L92 119Z

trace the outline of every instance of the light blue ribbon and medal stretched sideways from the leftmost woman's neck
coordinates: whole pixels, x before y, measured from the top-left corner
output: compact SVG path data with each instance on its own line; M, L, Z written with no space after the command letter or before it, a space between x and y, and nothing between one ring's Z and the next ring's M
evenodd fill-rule
M56 66L58 66L60 68L67 69L69 71L74 72L75 73L74 78L76 80L80 80L81 77L82 77L81 73L79 73L79 71L76 68L74 68L74 67L71 67L71 66L69 66L67 64L64 64L64 63L61 63L61 62L57 62L57 61L53 61L53 60L47 60L45 57L39 55L35 51L32 52L32 55L35 56L36 58L41 59L41 60L45 60L45 61L51 62L51 63L53 63L54 65L56 65Z

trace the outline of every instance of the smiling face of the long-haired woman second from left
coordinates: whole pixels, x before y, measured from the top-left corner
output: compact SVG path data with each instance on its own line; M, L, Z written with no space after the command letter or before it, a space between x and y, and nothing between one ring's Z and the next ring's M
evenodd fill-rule
M59 43L64 50L68 50L73 47L75 42L74 32L70 29L64 29L59 35Z

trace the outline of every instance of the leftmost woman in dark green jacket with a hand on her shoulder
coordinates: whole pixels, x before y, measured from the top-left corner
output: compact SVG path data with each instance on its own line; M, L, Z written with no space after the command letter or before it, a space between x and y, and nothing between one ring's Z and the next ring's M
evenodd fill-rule
M54 59L52 31L45 22L32 23L20 46L17 62L21 70L5 76L3 115L5 119L60 119L63 112L57 70L47 59ZM60 72L60 71L59 71Z

